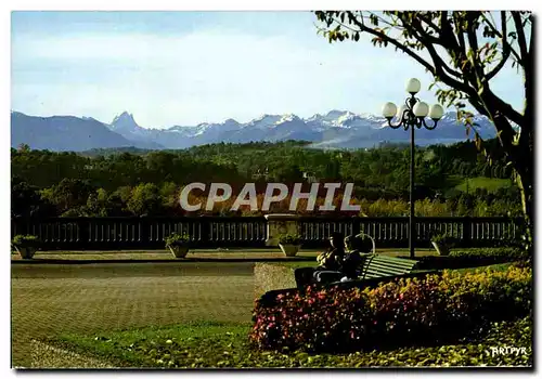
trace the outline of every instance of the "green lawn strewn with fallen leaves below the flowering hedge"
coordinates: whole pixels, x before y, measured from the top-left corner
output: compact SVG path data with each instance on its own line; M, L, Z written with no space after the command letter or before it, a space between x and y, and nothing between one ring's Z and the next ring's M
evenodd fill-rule
M479 337L442 347L311 355L302 351L250 349L247 324L198 323L92 336L63 336L56 343L107 358L119 367L386 367L386 366L531 366L532 322L493 323ZM525 347L528 354L491 356L490 347Z

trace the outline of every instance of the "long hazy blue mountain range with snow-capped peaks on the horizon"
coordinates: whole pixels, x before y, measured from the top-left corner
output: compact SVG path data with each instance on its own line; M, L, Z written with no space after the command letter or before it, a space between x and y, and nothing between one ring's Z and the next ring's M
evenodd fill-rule
M475 122L483 139L495 136L495 129L488 118L475 116ZM410 141L410 132L387 128L386 123L380 116L331 110L306 119L292 114L262 115L246 123L227 119L219 123L147 129L140 127L133 115L127 112L111 123L92 117L36 117L12 112L11 146L27 144L35 149L82 152L127 146L172 149L217 142L304 140L312 142L311 147L317 148L360 148L383 142ZM467 134L465 127L457 123L455 113L447 113L437 129L417 129L415 139L416 145L423 146L465 141Z

